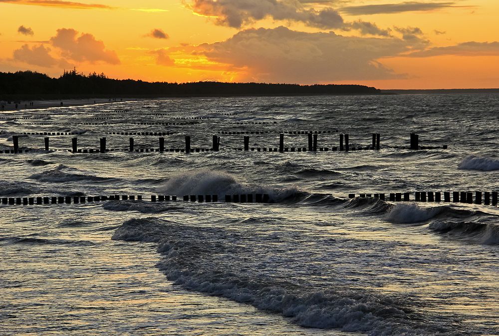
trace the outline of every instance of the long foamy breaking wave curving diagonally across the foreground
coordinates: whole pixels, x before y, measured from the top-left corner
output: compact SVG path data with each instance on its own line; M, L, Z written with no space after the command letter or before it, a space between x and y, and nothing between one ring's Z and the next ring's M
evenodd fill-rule
M259 252L248 235L145 218L126 221L112 239L155 242L163 256L157 267L176 285L281 314L303 327L373 336L446 332L440 326L414 322L409 303L358 289L298 286L244 267L239 263Z

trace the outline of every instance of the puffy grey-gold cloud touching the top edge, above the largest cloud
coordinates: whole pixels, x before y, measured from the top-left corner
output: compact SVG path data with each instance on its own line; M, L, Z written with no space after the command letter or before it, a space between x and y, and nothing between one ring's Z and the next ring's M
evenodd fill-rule
M266 17L326 29L343 24L343 18L335 9L307 9L296 0L192 0L187 6L197 14L215 18L217 24L235 28Z

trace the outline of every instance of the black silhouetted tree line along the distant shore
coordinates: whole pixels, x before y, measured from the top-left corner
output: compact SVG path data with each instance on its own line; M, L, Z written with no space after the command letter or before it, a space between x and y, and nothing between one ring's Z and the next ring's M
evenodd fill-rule
M137 96L270 96L270 95L336 95L377 94L380 90L363 85L336 84L271 84L224 83L201 81L189 83L145 82L132 79L112 79L103 73L84 75L64 71L59 78L32 71L0 72L0 99L14 99L22 95L30 99L50 96L79 97L137 97Z

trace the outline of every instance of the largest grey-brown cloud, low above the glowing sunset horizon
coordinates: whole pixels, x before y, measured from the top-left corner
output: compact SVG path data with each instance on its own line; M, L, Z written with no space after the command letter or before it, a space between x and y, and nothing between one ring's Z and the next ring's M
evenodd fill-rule
M316 83L400 78L377 60L408 51L410 46L394 37L347 37L280 26L242 30L225 41L201 44L194 51L186 47L184 52L202 53L209 61L227 64L228 71L239 71L240 80Z

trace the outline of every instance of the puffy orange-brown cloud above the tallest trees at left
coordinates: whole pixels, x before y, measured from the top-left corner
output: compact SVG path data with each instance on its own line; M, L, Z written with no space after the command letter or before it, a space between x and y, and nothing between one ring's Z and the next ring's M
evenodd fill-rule
M74 29L62 28L57 29L57 34L50 38L50 42L62 50L64 57L75 61L120 63L116 52L106 50L104 42L96 40L92 34L82 33L79 35L78 31Z

